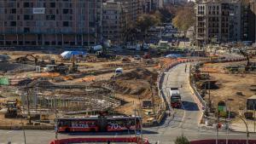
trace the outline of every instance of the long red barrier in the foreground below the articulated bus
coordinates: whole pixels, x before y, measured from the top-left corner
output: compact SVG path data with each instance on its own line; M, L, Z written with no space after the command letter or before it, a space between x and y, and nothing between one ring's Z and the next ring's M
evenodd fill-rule
M115 138L70 138L50 141L49 144L72 144L82 142L134 142L137 144L149 144L148 140L140 137L115 137Z

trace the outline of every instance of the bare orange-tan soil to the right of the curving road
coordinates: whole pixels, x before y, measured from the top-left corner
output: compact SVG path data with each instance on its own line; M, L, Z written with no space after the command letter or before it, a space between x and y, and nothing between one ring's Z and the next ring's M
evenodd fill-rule
M204 69L211 69L210 76L212 79L218 80L218 89L211 89L211 100L214 108L217 108L218 101L226 101L230 99L228 105L232 112L238 113L244 110L248 97L255 95L255 92L249 88L256 84L255 73L230 74L224 71L225 66L245 65L246 62L234 63L216 63L203 66ZM241 92L242 95L237 95ZM206 96L208 99L208 94Z

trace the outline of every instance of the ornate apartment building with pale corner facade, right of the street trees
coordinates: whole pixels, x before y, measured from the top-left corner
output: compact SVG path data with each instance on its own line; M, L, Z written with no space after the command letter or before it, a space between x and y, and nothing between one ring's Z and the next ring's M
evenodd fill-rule
M241 40L240 0L196 1L195 20L198 45Z

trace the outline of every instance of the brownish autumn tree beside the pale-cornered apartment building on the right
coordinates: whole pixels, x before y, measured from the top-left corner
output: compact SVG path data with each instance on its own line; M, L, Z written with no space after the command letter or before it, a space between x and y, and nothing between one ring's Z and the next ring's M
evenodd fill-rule
M177 27L179 31L187 32L189 27L195 24L195 10L194 4L188 3L183 8L177 10L177 14L172 20L173 26Z

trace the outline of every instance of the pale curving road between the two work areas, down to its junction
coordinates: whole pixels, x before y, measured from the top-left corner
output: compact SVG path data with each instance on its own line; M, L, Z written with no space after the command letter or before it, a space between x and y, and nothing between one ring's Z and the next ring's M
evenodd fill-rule
M186 66L187 71L185 72ZM168 90L171 87L179 87L183 105L179 109L172 109L172 107L170 107L172 115L171 117L166 118L165 123L160 125L160 127L145 129L158 133L157 136L154 135L152 138L151 135L148 135L150 140L154 138L152 141L169 143L170 141L173 141L173 138L177 135L185 135L188 131L189 133L190 131L197 132L200 128L199 122L201 119L201 112L192 98L189 89L189 64L180 64L173 67L169 72L165 72L161 89L163 90L169 106L170 97L168 95Z

